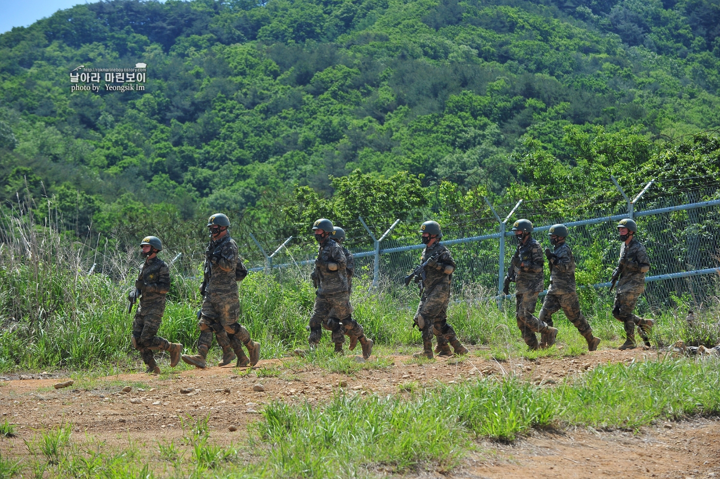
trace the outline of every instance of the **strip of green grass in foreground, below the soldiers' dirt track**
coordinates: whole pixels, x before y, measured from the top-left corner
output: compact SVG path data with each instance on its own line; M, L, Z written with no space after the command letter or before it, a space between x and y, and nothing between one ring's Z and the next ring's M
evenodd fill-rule
M245 442L212 440L207 416L181 421L184 438L157 447L68 443L68 426L32 441L17 472L45 478L357 478L445 472L477 447L509 442L531 429L592 426L636 431L660 420L720 413L720 360L661 357L606 364L561 384L539 387L508 376L327 403L267 405ZM409 394L408 394L409 393ZM0 471L14 462L0 460ZM2 477L2 476L0 476ZM9 476L8 476L9 477ZM40 477L40 476L38 476Z

